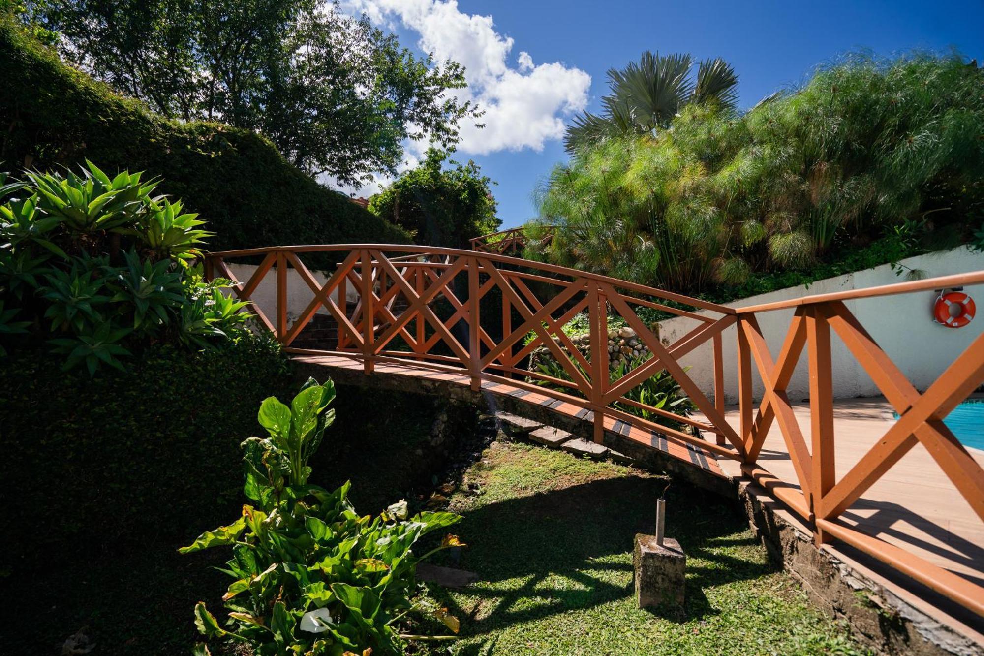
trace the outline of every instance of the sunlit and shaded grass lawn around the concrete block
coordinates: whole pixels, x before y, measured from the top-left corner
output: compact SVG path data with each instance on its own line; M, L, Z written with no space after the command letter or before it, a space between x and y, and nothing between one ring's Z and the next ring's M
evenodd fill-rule
M666 534L687 553L680 617L634 603L632 546L652 532L667 480L522 443L494 442L450 509L468 547L453 564L480 580L432 588L461 620L454 654L863 653L807 604L723 499L670 488Z

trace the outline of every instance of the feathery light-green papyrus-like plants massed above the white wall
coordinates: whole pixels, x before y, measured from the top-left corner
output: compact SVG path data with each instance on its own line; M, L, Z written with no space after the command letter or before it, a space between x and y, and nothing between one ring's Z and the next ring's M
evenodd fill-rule
M540 221L556 234L540 256L694 293L883 236L906 254L970 239L984 217L982 85L956 56L857 56L742 116L688 104L666 130L554 170Z

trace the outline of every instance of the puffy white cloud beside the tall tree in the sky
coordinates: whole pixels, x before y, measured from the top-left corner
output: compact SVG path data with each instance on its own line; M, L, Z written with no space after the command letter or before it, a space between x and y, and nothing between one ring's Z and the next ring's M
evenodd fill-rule
M563 137L564 118L587 104L587 73L560 62L535 64L525 51L511 66L513 39L495 31L491 16L462 13L456 0L347 0L342 6L376 25L399 23L419 34L417 46L436 61L465 67L468 87L455 93L478 103L485 127L461 125L463 153L540 151L544 142Z

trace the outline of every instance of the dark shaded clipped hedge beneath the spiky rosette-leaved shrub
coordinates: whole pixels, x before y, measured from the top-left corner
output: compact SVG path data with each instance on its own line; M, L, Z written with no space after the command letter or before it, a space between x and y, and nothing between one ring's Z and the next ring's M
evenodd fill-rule
M29 350L2 364L0 544L15 567L33 553L184 539L226 519L260 402L295 386L268 337L198 354L152 347L126 372L94 377Z

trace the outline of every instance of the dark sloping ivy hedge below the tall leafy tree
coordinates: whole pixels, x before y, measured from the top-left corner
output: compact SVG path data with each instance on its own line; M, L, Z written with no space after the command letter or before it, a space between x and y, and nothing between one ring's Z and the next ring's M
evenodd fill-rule
M405 230L332 191L255 133L167 120L63 63L0 19L2 168L83 164L145 170L209 217L213 250L409 241Z

